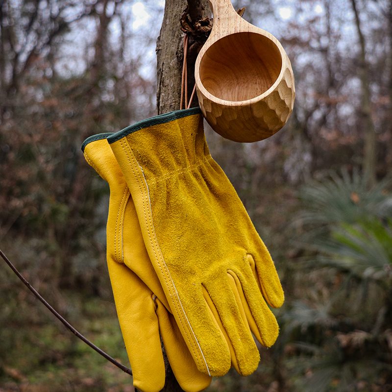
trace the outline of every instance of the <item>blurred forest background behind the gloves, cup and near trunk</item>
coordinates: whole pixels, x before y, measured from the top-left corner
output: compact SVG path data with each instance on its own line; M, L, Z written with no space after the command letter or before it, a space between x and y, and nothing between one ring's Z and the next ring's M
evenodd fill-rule
M257 371L230 371L208 391L392 391L392 1L233 5L286 49L294 112L265 141L234 143L206 125L207 141L286 301ZM125 365L105 261L109 190L80 146L156 114L163 8L0 1L0 248ZM1 392L133 391L131 377L53 319L5 263L0 298Z

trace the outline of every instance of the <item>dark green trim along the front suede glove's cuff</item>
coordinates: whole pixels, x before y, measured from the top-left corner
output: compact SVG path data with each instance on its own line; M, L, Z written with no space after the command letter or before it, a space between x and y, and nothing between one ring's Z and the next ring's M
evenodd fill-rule
M188 117L188 116L192 116L194 114L200 114L200 113L201 113L201 110L197 106L197 107L193 107L191 109L175 110L173 112L160 114L158 116L139 121L139 123L129 125L119 132L110 134L111 136L109 136L107 138L107 141L109 142L109 144L112 144L114 142L117 142L120 139L123 139L123 137L125 137L126 135L129 135L130 133L136 132L140 129L144 129L144 128L147 128L152 125L170 123L173 120L182 119L183 117Z

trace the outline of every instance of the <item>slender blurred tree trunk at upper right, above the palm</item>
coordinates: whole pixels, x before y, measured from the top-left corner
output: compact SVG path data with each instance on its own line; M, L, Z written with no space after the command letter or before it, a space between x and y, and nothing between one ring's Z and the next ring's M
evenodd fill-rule
M363 172L367 177L368 186L372 187L376 183L376 133L374 123L371 118L370 107L370 74L369 66L366 61L365 38L361 29L361 22L358 15L356 0L351 0L352 8L355 15L355 24L357 26L358 38L361 45L359 77L362 86L362 107L361 118L365 129L365 149L363 160Z

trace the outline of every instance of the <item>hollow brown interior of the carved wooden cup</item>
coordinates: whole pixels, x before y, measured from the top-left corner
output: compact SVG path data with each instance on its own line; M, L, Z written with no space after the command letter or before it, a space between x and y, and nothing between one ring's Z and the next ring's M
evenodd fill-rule
M265 93L282 68L282 56L270 38L254 32L227 35L211 45L200 61L204 88L226 101L244 101Z

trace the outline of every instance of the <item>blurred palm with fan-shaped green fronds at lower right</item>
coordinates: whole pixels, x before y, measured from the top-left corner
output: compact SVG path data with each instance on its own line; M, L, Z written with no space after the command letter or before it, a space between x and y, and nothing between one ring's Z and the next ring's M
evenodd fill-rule
M343 171L308 184L299 194L306 203L300 219L304 232L310 232L303 236L306 249L312 249L308 266L332 271L319 274L328 301L296 301L282 318L282 338L296 340L287 364L302 374L300 390L392 387L390 185L385 179L368 189L359 172Z

